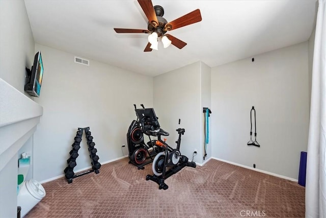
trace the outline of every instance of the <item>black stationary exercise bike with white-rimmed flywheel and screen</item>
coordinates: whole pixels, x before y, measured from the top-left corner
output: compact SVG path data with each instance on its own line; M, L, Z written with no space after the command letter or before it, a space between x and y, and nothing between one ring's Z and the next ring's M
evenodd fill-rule
M154 175L147 175L146 180L152 180L159 185L159 189L166 190L169 186L164 182L165 179L179 172L185 166L196 168L196 163L193 161L189 162L188 158L181 155L180 152L181 135L184 134L185 130L180 128L176 130L179 137L176 141L177 148L173 149L165 142L165 140L161 140L161 136L168 136L169 133L160 128L157 117L152 108L147 108L143 111L138 111L137 109L136 113L139 120L144 120L142 122L143 132L148 135L157 136L155 144L164 149L164 151L158 153L153 160L152 169Z

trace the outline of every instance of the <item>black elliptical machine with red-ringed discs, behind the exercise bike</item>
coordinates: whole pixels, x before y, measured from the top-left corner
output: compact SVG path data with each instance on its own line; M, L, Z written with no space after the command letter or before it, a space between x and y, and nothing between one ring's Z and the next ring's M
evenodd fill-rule
M133 105L135 110L138 110L136 105ZM145 109L144 105L141 104ZM137 113L136 113L137 114ZM153 162L154 157L161 151L162 148L156 146L155 141L151 140L150 136L147 144L144 142L144 134L142 130L142 122L132 120L127 132L128 157L129 163L134 164L138 169L144 169L146 164Z

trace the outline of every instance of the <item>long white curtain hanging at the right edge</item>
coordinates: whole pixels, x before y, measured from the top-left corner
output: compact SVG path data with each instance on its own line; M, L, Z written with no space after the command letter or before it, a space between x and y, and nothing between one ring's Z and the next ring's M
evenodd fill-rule
M326 218L326 7L318 1L306 174L306 217Z

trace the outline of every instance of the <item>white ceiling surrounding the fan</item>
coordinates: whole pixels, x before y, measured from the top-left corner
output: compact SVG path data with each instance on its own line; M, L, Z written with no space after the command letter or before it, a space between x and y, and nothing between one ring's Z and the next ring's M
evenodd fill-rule
M147 29L135 0L25 0L36 43L140 74L156 76L203 61L210 67L307 41L317 3L300 1L155 1L172 21L200 9L202 21L168 33L185 41L143 52L147 34L117 34L113 28Z

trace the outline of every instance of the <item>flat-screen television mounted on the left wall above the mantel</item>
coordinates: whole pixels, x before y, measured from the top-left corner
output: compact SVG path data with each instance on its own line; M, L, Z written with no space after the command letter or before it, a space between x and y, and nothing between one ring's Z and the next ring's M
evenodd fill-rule
M41 92L43 78L43 61L41 51L34 56L34 62L31 69L26 67L27 75L25 81L25 91L32 96L39 97Z

